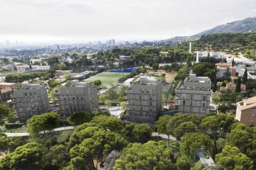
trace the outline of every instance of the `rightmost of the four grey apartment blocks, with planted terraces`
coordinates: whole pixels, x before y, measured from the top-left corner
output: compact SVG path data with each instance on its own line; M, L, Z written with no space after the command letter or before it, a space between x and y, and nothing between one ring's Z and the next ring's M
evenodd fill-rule
M208 77L189 77L175 89L175 111L200 116L210 112L211 80Z

